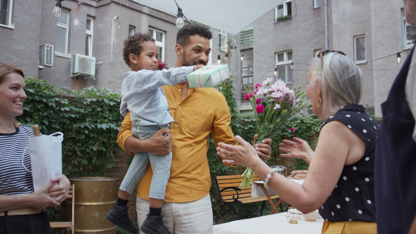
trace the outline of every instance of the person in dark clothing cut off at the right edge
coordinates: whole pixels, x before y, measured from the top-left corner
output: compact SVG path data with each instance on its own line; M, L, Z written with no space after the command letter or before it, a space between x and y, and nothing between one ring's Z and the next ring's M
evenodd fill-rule
M416 26L416 0L404 0ZM376 147L376 218L379 233L416 233L416 53L410 51L388 98ZM413 226L412 226L413 224Z

